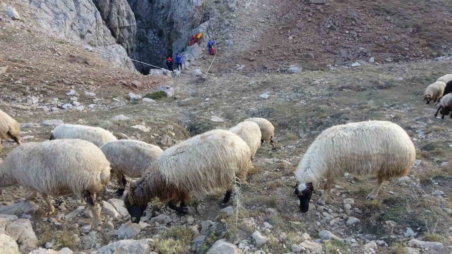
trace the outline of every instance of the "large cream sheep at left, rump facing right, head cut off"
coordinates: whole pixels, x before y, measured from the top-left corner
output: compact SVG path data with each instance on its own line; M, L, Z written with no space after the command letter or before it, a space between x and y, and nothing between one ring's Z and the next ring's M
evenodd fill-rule
M48 214L55 210L49 195L74 193L88 204L97 229L101 220L100 208L95 205L96 193L109 177L110 163L102 151L77 139L25 143L0 163L0 188L18 184L35 195L40 192Z

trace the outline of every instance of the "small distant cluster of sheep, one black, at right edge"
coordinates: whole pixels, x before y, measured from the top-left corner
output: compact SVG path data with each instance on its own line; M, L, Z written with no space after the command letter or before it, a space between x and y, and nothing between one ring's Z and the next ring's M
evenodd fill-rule
M438 116L438 112L441 114L441 119L444 119L444 115L449 115L452 112L452 74L441 76L436 82L428 85L424 91L424 100L427 104L430 104L430 100L439 102L436 105L435 117Z

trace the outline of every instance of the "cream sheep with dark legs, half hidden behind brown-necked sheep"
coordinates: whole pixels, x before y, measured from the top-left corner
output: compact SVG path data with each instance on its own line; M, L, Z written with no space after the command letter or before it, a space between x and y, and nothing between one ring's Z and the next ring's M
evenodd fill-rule
M163 150L158 146L136 140L110 141L101 146L100 150L110 162L111 173L114 173L118 178L120 187L116 193L121 196L127 184L125 175L142 177L163 153Z

